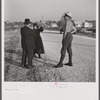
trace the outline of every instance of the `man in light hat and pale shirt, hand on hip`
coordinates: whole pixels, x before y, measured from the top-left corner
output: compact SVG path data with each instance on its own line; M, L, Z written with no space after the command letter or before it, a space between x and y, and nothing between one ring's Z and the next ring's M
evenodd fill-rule
M72 18L72 16L69 12L64 13L64 15L61 18L64 33L63 33L63 39L62 39L62 49L61 49L60 61L56 66L54 66L55 68L63 67L63 60L65 58L66 51L68 52L69 61L68 61L68 63L65 63L65 65L68 65L68 66L73 65L71 45L72 45L72 40L73 40L72 34L76 30L74 30L74 28L73 28L74 25L73 25L71 18Z

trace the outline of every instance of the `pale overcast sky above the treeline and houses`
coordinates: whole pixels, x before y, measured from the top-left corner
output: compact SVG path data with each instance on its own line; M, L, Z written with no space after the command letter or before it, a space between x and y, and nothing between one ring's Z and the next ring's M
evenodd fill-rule
M5 0L5 20L59 20L69 11L75 20L95 20L96 0Z

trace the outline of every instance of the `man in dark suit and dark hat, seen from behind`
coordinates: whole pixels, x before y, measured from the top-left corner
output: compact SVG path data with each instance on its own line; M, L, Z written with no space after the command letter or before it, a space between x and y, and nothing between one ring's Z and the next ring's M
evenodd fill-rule
M23 49L21 66L26 66L28 56L28 68L32 67L33 50L35 49L35 31L30 28L30 19L25 19L25 26L21 28L21 46Z

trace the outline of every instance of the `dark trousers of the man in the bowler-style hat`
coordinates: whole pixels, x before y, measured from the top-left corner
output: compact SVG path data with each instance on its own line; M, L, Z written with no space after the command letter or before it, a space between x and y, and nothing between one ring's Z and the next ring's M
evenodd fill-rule
M22 53L22 65L26 65L26 59L28 56L28 66L32 66L33 50L24 50Z

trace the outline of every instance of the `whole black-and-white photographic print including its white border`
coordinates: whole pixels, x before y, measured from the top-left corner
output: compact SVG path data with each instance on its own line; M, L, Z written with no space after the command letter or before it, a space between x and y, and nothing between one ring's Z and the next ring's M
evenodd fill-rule
M14 96L10 95L18 91L16 97L21 91L25 92L22 93L25 97L28 91L32 96L33 92L31 93L30 89L39 92L40 84L51 89L64 88L64 91L70 88L71 94L72 88L75 92L78 87L74 87L75 83L83 84L82 88L87 89L84 91L86 93L84 96L83 93L78 94L79 97L69 95L68 100L73 100L75 97L75 100L84 100L80 99L81 97L85 100L97 100L98 0L4 0L2 2L2 77L5 86L4 95L6 94L3 100L7 100L7 97L14 100ZM43 85L44 83L46 85ZM90 86L93 84L93 88L89 87L88 90L86 84ZM54 91L51 94L55 93ZM92 96L88 97L90 91ZM35 96L37 95L39 94L36 93ZM15 100L27 100L31 97L26 99L24 96ZM45 98L43 100L46 100L46 97L43 97ZM55 98L57 99L67 98ZM41 100L41 98L37 96L31 100Z

